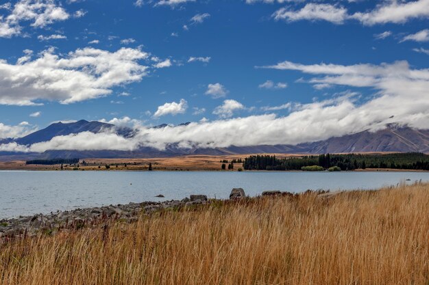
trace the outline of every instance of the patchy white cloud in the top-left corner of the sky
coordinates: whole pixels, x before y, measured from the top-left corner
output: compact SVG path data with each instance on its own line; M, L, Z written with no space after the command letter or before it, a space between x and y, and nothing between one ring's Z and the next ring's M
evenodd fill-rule
M21 34L23 22L42 28L70 17L54 0L21 0L14 5L5 3L1 8L10 11L8 15L0 16L0 37L3 38Z

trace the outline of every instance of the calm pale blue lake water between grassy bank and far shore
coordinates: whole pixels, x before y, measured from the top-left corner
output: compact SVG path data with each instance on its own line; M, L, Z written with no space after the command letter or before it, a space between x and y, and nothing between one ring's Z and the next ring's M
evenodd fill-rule
M228 198L265 190L373 189L429 172L0 172L0 219L129 202L181 200L191 194ZM155 198L162 194L164 199Z

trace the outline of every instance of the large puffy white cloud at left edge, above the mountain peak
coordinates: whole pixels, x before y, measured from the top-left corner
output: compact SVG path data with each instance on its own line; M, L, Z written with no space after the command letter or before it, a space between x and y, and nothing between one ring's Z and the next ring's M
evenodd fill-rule
M140 81L148 67L138 61L147 57L140 49L110 52L87 47L64 57L48 49L32 60L32 51L25 51L16 64L0 59L0 104L69 104L106 96L111 87Z

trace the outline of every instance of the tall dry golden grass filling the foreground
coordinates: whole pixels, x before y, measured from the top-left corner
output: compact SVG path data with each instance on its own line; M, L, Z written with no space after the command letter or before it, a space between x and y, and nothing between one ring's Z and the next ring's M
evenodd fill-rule
M429 284L429 185L213 202L0 245L0 284Z

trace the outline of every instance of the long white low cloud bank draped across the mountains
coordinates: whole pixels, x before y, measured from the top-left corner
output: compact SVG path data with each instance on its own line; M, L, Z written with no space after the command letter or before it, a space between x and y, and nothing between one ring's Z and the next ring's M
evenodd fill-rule
M264 68L310 74L310 78L303 79L310 84L370 87L376 90L376 96L358 103L360 95L349 92L319 102L284 105L291 110L288 116L278 117L273 113L245 118L223 116L224 120L165 128L148 128L130 118L114 119L111 122L133 122L135 135L124 138L115 133L79 133L32 146L1 145L0 150L137 150L147 146L164 150L170 144L180 148L224 148L299 144L367 129L377 131L393 122L429 128L429 69L411 69L407 62L379 66L281 62ZM266 111L275 111L275 107Z

